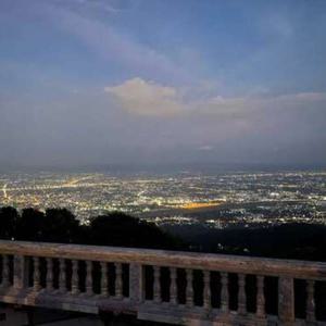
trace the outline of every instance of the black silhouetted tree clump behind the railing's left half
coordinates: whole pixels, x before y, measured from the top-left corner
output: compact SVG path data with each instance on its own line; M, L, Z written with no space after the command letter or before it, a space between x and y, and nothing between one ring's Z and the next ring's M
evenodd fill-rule
M49 209L45 213L25 209L0 209L0 238L24 241L84 243L135 248L180 249L177 238L154 224L121 212L98 216L82 225L66 209Z

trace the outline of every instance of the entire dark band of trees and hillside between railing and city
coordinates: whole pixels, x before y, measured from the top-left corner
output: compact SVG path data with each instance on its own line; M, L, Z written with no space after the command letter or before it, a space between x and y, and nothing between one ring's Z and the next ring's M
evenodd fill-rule
M0 209L0 222L2 239L326 261L326 226L314 224L225 229L170 226L163 230L121 212L100 215L89 225L82 225L66 209L45 213L25 209L18 214L10 206Z

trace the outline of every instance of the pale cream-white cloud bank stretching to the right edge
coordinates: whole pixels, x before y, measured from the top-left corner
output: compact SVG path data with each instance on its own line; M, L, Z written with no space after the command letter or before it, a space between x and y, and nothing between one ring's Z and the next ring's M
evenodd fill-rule
M163 86L136 77L104 89L122 109L129 113L150 116L216 116L244 118L275 110L297 110L326 102L324 92L300 92L279 96L248 96L226 98L200 97L189 100L191 89ZM195 90L198 91L198 90Z

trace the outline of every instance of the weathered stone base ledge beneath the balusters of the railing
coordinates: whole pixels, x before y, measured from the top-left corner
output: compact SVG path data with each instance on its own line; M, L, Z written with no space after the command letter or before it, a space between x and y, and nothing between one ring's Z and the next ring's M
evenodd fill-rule
M0 289L0 302L39 306L53 310L75 311L88 314L102 312L114 312L115 314L134 314L140 321L166 323L172 325L188 326L267 326L267 325L298 325L308 323L296 319L290 324L280 323L276 316L266 315L259 319L255 314L239 314L234 311L227 313L217 309L203 311L199 306L186 308L183 304L172 305L168 302L155 304L152 302L135 303L128 298L101 298L101 296L87 296L86 293L66 296L60 291L36 292L30 289L17 290L12 287ZM325 324L314 322L309 325L322 326Z

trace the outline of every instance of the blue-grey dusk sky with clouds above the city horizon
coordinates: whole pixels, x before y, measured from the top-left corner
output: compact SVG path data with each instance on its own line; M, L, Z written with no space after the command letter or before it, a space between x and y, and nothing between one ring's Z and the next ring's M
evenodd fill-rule
M0 166L326 166L326 1L1 0Z

